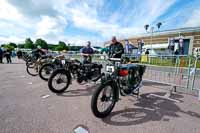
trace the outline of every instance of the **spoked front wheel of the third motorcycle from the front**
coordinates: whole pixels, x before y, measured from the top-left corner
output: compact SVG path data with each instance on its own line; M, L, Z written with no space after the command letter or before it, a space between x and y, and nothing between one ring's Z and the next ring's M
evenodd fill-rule
M41 79L48 81L49 77L54 71L54 65L52 64L45 64L39 70L39 76Z

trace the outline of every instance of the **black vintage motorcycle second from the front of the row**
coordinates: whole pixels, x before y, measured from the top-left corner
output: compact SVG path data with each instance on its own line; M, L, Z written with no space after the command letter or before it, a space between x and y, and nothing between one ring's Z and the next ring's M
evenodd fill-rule
M101 64L83 64L78 60L66 60L63 64L64 68L55 70L48 80L48 87L54 93L67 90L72 79L81 84L83 81L96 82L101 78Z

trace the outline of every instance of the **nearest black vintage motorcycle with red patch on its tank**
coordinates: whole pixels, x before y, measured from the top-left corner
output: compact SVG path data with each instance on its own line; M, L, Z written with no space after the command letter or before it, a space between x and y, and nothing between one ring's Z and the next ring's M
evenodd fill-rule
M110 114L119 100L119 95L139 94L145 66L121 64L121 59L109 59L106 72L101 78L101 85L94 91L91 109L98 118ZM102 107L102 108L101 108Z

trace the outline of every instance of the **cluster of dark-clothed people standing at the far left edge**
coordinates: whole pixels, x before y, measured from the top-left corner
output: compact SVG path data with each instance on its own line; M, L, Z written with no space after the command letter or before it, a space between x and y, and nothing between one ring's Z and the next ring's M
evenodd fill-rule
M10 50L3 50L0 47L0 63L3 63L3 58L5 57L7 60L7 63L12 63L12 59L11 59L11 55L12 55L12 51Z

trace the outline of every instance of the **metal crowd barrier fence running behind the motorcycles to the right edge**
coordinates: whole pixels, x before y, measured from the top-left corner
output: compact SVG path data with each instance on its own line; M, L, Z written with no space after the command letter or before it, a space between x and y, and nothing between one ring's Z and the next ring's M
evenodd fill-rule
M66 57L81 59L81 54L66 54ZM180 87L199 91L200 100L200 58L194 56L135 56L123 55L127 62L146 66L143 79L162 83L173 88ZM93 55L94 62L106 64L107 55Z

